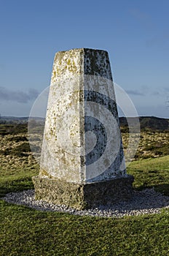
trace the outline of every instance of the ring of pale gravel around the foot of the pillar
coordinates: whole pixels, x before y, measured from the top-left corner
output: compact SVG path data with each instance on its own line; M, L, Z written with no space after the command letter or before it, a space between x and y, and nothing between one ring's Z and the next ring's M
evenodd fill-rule
M154 189L134 191L129 201L122 201L111 206L99 206L79 211L68 206L57 206L43 200L35 200L34 189L23 192L12 192L1 198L8 203L28 206L39 211L58 211L81 216L93 217L124 217L140 214L158 214L162 208L169 208L169 197L155 192Z

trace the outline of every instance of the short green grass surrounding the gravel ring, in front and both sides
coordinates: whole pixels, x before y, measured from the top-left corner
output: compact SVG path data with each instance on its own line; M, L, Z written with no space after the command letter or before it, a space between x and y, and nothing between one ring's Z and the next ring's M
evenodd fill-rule
M169 156L132 162L134 187L169 195ZM38 166L1 169L1 196L33 188ZM138 217L79 217L36 211L0 200L0 255L168 255L169 211Z

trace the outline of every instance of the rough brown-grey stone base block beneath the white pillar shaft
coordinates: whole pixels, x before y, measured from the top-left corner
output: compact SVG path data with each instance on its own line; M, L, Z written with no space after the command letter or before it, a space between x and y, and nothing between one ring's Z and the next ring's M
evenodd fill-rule
M130 200L133 195L133 176L118 176L109 181L76 184L54 178L32 178L36 200L66 205L77 210L112 205Z

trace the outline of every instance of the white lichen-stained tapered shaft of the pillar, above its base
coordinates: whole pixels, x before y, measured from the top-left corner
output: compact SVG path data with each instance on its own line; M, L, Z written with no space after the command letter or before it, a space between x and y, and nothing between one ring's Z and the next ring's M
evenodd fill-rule
M56 53L39 176L77 183L109 180L126 174L122 159L108 53Z

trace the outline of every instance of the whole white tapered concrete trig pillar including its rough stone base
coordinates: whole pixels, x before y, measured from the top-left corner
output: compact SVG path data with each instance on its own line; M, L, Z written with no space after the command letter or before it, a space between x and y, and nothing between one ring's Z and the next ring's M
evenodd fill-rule
M74 49L55 55L37 200L76 209L113 204L132 195L125 170L109 55Z

